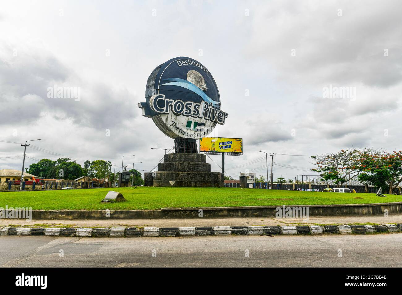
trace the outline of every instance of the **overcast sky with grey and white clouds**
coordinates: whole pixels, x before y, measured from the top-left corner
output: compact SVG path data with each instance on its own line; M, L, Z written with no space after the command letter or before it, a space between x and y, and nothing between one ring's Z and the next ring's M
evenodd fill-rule
M400 150L401 15L400 1L2 1L0 140L42 139L26 167L136 155L124 165L150 171L164 154L150 148L173 140L137 103L155 67L186 56L212 73L229 113L211 136L243 138L244 155L226 157L235 179L266 175L259 150L287 179L315 174L312 161L279 154ZM79 87L80 100L48 98L54 85ZM0 169L21 169L22 154L0 142Z

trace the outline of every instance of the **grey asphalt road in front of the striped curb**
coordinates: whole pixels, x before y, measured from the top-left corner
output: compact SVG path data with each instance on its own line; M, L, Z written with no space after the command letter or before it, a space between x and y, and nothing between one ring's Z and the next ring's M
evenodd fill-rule
M177 238L1 236L0 266L402 267L401 244L402 233Z

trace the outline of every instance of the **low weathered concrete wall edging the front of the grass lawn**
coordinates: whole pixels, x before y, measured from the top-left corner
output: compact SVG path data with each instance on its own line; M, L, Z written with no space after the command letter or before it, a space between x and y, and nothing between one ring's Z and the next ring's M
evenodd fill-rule
M154 219L275 217L282 206L162 208L160 210L32 210L32 219ZM364 216L401 214L402 202L340 205L286 205L285 208L309 208L309 216ZM9 210L12 211L12 210Z

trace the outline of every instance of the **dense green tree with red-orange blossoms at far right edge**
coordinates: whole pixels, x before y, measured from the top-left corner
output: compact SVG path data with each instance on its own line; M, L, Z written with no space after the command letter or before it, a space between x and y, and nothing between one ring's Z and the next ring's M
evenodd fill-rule
M359 179L376 187L388 188L392 194L402 181L402 151L366 151L354 169L361 171Z

